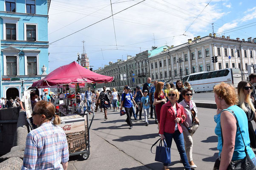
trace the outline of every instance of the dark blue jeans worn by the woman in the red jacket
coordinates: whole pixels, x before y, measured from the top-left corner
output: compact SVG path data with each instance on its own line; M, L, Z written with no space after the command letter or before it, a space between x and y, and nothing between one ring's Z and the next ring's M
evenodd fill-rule
M176 146L181 156L181 161L183 166L185 167L185 170L191 170L190 165L188 164L188 161L187 161L187 155L184 147L183 133L180 133L179 130L175 130L174 133L164 132L164 137L168 147L172 146L172 142L174 139L174 142L176 143ZM164 164L164 166L168 166L168 164Z

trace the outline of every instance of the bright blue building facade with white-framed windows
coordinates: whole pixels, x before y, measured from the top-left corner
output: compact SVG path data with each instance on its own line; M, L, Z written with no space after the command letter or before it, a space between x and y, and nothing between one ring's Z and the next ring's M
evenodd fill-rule
M49 73L49 6L50 0L0 0L1 97L22 97Z

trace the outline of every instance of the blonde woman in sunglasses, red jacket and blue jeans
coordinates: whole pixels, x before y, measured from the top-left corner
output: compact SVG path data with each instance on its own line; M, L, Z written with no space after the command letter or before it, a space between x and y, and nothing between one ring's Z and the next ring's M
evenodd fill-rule
M168 147L171 147L172 141L174 139L185 170L191 170L187 161L187 155L184 147L184 138L181 128L181 123L184 122L186 116L184 114L183 106L176 102L179 99L178 90L170 90L168 99L169 102L164 104L161 108L159 134L161 134L161 140L166 140ZM169 170L168 164L164 164L164 170Z

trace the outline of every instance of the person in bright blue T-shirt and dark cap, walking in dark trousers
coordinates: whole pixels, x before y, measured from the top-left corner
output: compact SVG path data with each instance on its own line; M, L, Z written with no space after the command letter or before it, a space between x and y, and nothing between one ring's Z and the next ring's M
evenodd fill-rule
M124 87L124 93L122 94L120 110L122 110L124 107L124 110L127 115L127 119L125 120L125 122L127 122L127 124L129 125L129 129L132 129L132 102L136 106L136 108L138 108L138 105L135 103L134 99L132 98L132 95L129 93L130 89L131 88L129 86Z

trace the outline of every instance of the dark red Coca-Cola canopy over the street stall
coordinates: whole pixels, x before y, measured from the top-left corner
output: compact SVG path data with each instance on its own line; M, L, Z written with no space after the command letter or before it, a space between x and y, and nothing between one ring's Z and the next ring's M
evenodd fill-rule
M112 81L113 77L92 72L74 61L55 69L43 79L34 82L32 87L65 85L70 83L106 83Z

